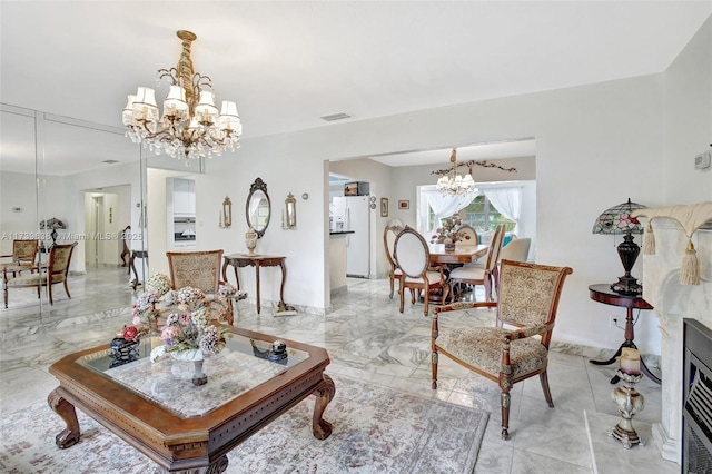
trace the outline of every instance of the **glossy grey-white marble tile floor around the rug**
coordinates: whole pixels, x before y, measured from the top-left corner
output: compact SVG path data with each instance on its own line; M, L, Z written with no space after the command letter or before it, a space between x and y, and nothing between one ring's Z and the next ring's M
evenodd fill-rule
M69 287L71 299L57 287L55 305L43 302L41 310L32 290L11 294L10 307L0 310L1 416L47 397L57 385L47 372L55 361L108 343L120 327L130 324L129 307L136 294L125 268L90 270L72 277ZM613 366L589 364L591 354L572 354L570 346L557 345L548 369L556 407L547 407L538 377L516 384L512 391L512 438L505 442L500 437L496 384L441 357L438 388L431 388L431 327L419 304L406 304L400 314L397 295L388 298L387 279L349 279L348 290L334 295L332 305L327 315L275 317L264 309L257 315L253 305L239 302L235 325L325 347L332 358L329 373L490 412L475 473L680 471L678 464L662 460L650 436L651 423L661 417L661 389L651 381L639 384L645 408L634 418L649 443L624 450L606 436L619 419L609 383ZM463 312L447 324L493 324L493 318L488 310ZM603 352L601 357L605 355Z

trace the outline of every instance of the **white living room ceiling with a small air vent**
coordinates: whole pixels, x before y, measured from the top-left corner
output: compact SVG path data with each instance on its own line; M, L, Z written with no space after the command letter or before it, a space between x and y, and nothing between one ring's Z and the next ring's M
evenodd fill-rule
M2 0L0 102L120 127L126 96L156 88L188 29L195 70L258 137L661 72L711 13L712 1ZM352 118L320 119L338 112ZM3 169L23 135L10 122ZM78 160L78 140L65 147Z

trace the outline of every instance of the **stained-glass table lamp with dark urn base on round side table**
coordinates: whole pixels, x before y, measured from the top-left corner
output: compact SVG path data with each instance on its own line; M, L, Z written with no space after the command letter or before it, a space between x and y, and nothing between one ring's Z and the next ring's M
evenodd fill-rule
M644 209L637 203L619 204L604 210L593 225L593 234L622 234L623 241L617 246L619 257L625 269L625 275L611 285L611 289L622 295L640 295L643 286L637 283L637 278L631 275L631 268L637 259L641 248L633 241L633 234L643 234L643 226L631 213L635 209Z

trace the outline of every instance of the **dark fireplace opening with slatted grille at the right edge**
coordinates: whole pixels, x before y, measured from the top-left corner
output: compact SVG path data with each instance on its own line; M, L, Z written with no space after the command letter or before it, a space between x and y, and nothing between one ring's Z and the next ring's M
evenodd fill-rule
M683 319L682 472L712 474L712 330Z

